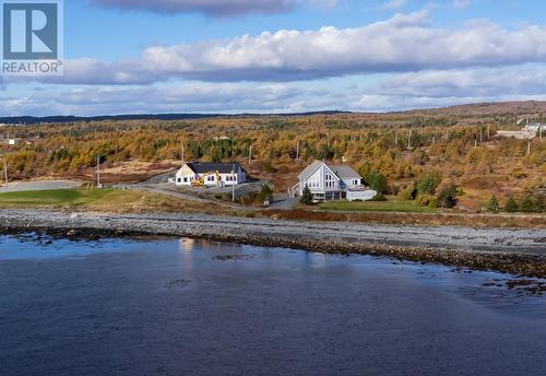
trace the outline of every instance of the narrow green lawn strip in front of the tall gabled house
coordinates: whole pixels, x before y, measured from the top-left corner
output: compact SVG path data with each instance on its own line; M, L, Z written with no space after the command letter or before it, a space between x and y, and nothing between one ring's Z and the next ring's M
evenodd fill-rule
M437 209L419 207L415 201L328 201L319 204L322 210L331 211L372 211L372 212L417 212L435 213Z

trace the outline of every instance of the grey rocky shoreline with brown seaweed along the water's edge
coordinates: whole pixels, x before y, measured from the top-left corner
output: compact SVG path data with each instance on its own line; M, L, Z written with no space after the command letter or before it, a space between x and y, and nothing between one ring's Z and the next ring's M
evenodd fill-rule
M106 214L0 210L4 234L47 232L69 238L161 235L365 254L546 278L546 231L296 222L205 214Z

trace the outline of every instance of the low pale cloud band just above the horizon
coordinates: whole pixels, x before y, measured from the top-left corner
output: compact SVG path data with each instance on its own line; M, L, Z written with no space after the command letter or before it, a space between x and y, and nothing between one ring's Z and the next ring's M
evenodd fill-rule
M26 96L0 95L3 115L133 113L294 113L324 109L385 111L454 104L546 99L546 67L526 64L399 73L347 87L346 80L312 83L173 83L50 86ZM57 89L62 89L58 91Z

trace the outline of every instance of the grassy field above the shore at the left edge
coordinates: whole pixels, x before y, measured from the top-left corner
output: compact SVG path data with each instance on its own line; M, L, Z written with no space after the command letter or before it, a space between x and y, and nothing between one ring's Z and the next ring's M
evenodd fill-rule
M0 193L0 208L85 209L105 212L210 212L211 205L139 190L55 189ZM214 213L228 213L214 208Z

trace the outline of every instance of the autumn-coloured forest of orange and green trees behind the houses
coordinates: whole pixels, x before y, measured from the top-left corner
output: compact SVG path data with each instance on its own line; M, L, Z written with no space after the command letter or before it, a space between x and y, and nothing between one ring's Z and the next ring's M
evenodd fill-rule
M324 160L365 177L380 174L384 195L426 204L451 186L458 208L478 212L492 197L499 207L543 199L546 141L497 137L521 128L513 114L410 111L48 122L4 126L0 152L10 179L92 181L99 161L114 183L176 168L183 150L186 161L239 161L281 192L307 164ZM8 138L19 142L10 145ZM426 177L432 187L419 187Z

